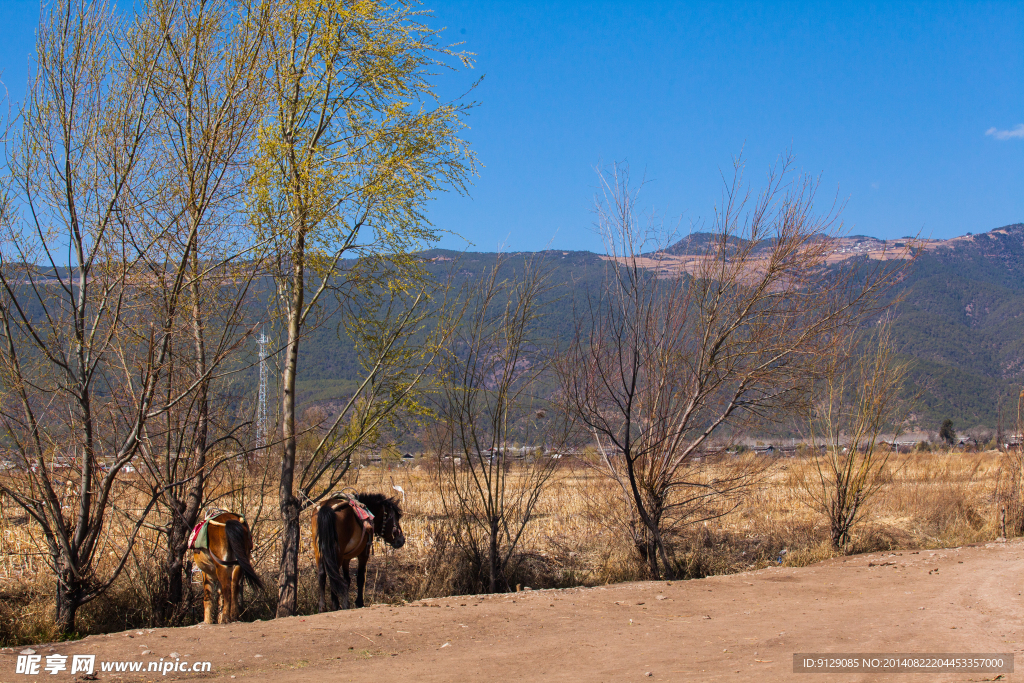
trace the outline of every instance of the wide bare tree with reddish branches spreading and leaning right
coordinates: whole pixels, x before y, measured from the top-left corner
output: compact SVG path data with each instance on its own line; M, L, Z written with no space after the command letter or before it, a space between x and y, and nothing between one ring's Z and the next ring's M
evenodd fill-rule
M721 514L763 470L756 460L709 467L702 450L725 425L799 408L901 261L827 267L840 226L814 213L814 184L788 162L756 197L737 170L686 259L655 251L660 236L638 225L627 171L602 182L608 276L581 305L563 392L635 515L650 575L672 575L668 537Z

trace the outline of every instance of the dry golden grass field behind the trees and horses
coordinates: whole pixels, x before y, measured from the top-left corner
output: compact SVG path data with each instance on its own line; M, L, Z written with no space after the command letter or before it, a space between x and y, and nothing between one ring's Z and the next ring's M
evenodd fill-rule
M997 483L1014 456L981 453L914 453L900 456L870 511L855 530L851 552L963 546L1000 535ZM714 465L712 465L714 466ZM774 461L761 483L719 519L688 527L676 554L689 578L726 574L766 566L802 566L835 555L827 526L807 505L800 486L810 474L800 457ZM407 545L378 544L367 581L368 603L402 602L476 592L473 567L453 543L450 520L437 494L430 463L375 465L351 483L359 490L403 498ZM225 468L216 481L223 508L244 510L253 527L254 564L267 584L248 595L245 621L272 616L279 546L275 481L265 471ZM393 486L403 489L403 496ZM126 490L109 521L111 553L130 520ZM644 579L644 568L618 522L614 484L586 463L566 461L547 485L521 542L511 585L531 588L596 586ZM300 611L315 608L315 571L309 549L308 516L300 560ZM1014 533L1011 510L1009 535ZM159 523L159 515L153 518ZM51 640L52 580L33 525L9 501L0 501L0 644ZM109 593L83 608L81 635L148 626L156 580L154 558L162 555L159 535L144 533L132 560ZM190 564L188 565L190 568ZM202 620L201 586L194 575L188 598L191 622Z

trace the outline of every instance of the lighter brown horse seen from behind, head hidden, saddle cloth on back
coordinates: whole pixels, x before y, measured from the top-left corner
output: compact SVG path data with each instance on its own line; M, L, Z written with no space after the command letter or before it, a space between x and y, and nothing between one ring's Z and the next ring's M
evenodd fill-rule
M239 618L242 600L242 582L253 588L263 588L249 554L253 538L249 524L233 512L221 512L209 520L207 548L197 548L193 561L203 570L203 621L213 624L214 605L220 594L220 623L229 624Z

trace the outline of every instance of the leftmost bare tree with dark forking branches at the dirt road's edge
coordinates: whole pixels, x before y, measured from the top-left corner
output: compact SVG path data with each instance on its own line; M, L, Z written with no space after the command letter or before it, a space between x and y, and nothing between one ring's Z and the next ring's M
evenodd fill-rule
M104 517L155 408L173 326L133 309L131 298L150 256L129 224L151 194L161 48L129 46L120 31L103 3L46 7L7 160L16 213L5 216L0 246L0 420L24 469L0 487L41 529L60 633L120 572L155 502L136 504L139 522L124 546L104 547ZM145 332L126 375L113 351L129 318ZM116 560L102 574L109 551Z

